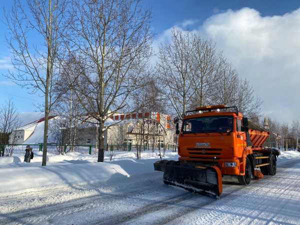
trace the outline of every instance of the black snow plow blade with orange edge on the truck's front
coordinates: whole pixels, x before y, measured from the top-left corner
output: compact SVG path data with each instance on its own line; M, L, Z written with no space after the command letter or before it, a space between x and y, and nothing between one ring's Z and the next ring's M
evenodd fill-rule
M154 163L154 170L163 171L163 182L219 199L222 193L221 171L216 166L160 160Z

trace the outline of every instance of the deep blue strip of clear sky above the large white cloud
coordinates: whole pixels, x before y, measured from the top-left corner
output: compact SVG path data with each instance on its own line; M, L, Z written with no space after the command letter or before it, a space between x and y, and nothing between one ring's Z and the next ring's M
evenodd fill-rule
M152 26L157 34L184 20L201 25L213 14L228 9L253 8L261 16L283 15L300 7L299 0L142 0L154 13Z

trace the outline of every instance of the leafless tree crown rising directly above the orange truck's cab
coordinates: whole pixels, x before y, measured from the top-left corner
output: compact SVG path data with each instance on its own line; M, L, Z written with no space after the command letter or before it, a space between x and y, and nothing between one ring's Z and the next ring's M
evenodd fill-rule
M221 62L215 44L194 32L172 29L170 43L161 44L156 62L161 92L175 114L187 106L202 106L204 96L216 80Z

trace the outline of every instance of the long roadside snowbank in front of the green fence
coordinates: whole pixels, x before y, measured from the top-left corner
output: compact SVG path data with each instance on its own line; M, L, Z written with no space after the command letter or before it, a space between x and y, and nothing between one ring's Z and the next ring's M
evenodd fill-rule
M144 151L140 160L134 152L116 152L114 161L105 153L104 162L97 162L95 155L69 152L66 155L47 153L47 165L41 166L42 152L34 152L30 163L23 162L24 154L14 153L0 157L0 191L40 187L51 184L91 180L106 180L131 176L153 170L159 160L158 152ZM175 152L166 152L164 158L178 158Z

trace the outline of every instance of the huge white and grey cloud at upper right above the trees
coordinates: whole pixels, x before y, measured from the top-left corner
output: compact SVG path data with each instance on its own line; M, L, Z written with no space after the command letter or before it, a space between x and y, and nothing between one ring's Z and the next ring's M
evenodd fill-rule
M247 77L264 101L263 113L280 121L300 119L300 8L265 17L251 8L227 10L194 31L215 41Z

